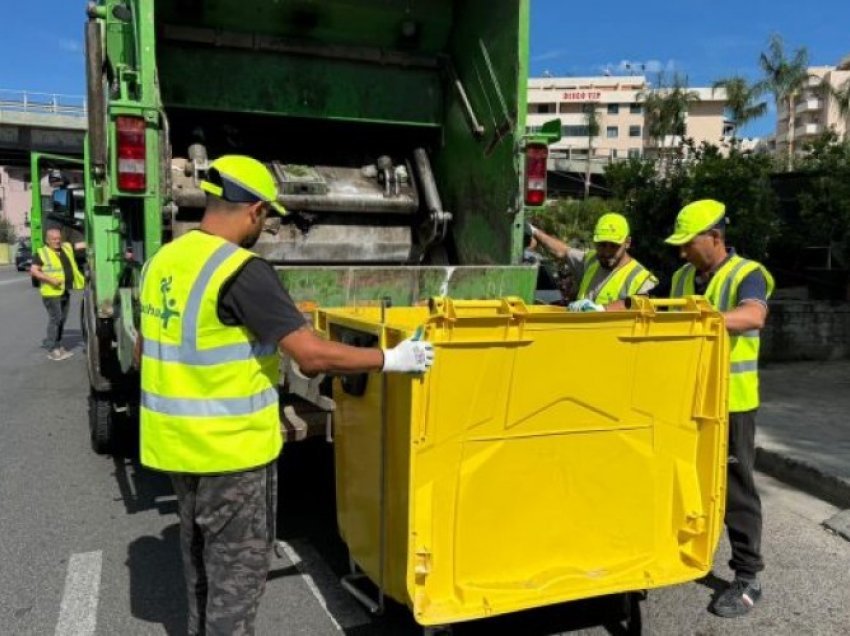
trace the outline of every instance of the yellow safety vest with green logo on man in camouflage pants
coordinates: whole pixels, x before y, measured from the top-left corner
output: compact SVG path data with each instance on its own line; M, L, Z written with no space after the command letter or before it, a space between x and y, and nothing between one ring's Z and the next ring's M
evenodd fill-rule
M253 254L189 232L142 273L142 464L226 473L280 453L277 343L218 319L219 292Z

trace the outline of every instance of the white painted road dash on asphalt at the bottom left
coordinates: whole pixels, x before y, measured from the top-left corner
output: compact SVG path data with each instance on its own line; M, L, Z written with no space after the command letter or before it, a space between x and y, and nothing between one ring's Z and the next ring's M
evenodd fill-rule
M103 552L72 554L59 607L56 636L91 636L97 627L97 601Z

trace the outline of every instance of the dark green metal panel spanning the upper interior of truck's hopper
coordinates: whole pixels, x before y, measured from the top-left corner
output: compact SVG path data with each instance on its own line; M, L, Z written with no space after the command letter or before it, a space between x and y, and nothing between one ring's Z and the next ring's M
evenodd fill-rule
M240 49L159 47L167 107L438 126L435 69L379 66Z

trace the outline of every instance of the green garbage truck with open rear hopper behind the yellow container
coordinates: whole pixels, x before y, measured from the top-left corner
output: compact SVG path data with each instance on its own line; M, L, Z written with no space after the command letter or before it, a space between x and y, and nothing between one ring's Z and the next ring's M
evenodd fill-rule
M526 135L528 0L100 0L87 13L96 452L138 401L141 264L196 227L218 156L276 176L290 214L255 250L305 309L531 300L523 215L545 202L560 125Z

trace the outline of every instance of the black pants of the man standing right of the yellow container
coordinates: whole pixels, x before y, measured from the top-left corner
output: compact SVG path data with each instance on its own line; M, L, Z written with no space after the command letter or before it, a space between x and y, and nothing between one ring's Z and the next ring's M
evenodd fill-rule
M761 499L753 478L756 412L729 414L726 487L726 529L732 545L729 567L744 578L755 578L764 569L761 558Z

